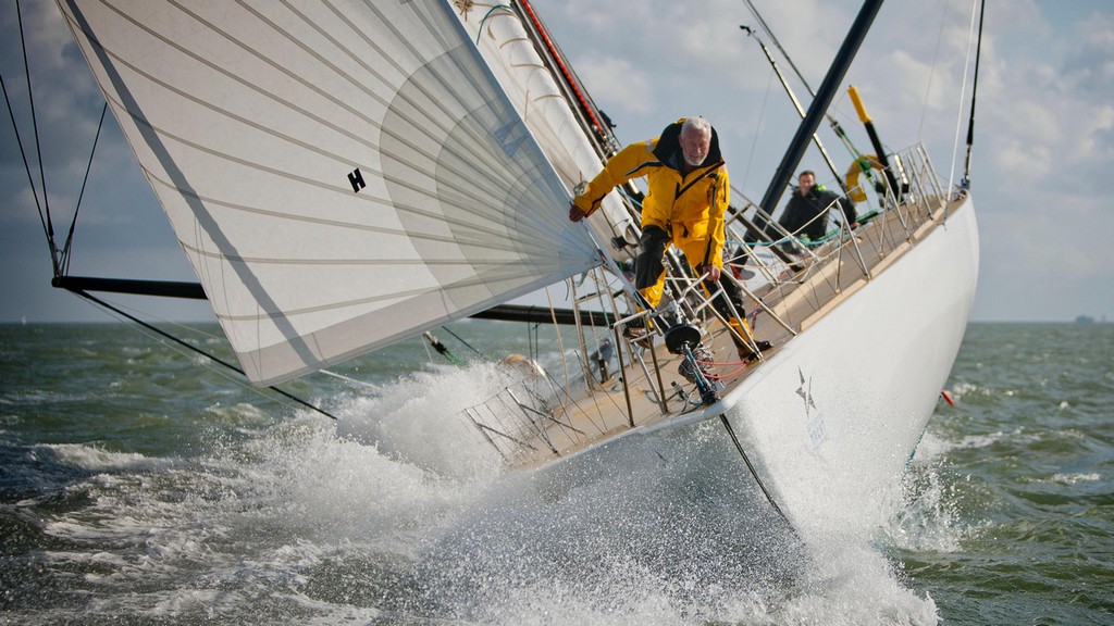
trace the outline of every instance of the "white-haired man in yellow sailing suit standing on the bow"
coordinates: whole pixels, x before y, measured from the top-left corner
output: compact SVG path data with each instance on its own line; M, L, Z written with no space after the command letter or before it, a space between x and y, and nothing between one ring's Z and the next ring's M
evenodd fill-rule
M651 306L657 306L665 285L665 246L672 242L697 275L707 273L705 288L723 286L735 310L745 315L739 287L723 272L723 219L730 185L715 129L703 117L683 118L665 127L661 137L623 148L573 200L568 218L579 222L592 215L612 189L642 176L648 189L642 204L635 287ZM736 319L722 296L712 305L740 336L750 336L745 319ZM735 344L741 359L754 356L744 342L736 339Z

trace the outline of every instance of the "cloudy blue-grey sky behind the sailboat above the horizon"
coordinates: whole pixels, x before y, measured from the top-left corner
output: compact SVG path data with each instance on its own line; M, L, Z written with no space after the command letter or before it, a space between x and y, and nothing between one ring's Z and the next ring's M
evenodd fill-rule
M753 4L812 88L860 9L853 0ZM104 99L53 2L20 6L46 197L56 238L63 242ZM739 28L759 27L745 1L534 0L534 7L622 143L656 137L680 117L702 115L720 135L736 195L761 199L800 118L758 41ZM858 88L887 148L924 143L941 177L958 182L974 77L973 9L970 0L882 6L831 109L859 150L873 151L847 96L849 85ZM6 2L0 71L19 137L35 159L19 32L16 4ZM807 107L804 85L775 55ZM1114 176L1114 2L987 0L976 102L970 174L980 270L971 319L1114 320L1114 195L1105 188ZM106 320L50 287L42 221L7 110L3 118L0 322ZM827 125L820 136L844 169L850 153ZM95 156L70 273L195 281L110 114ZM31 164L38 186L38 165ZM798 169L814 169L834 186L814 147ZM41 200L41 187L36 194ZM114 301L147 319L213 319L204 303Z

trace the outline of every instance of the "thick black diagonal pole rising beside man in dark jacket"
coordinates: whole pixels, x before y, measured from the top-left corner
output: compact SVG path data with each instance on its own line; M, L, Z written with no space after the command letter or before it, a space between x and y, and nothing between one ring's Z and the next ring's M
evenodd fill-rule
M881 7L882 0L866 0L862 9L859 10L854 23L851 25L851 30L848 31L843 45L828 69L828 75L824 77L823 82L820 84L817 97L813 98L812 104L809 106L808 115L804 116L801 126L798 127L797 135L793 136L793 140L790 143L789 149L785 150L785 156L782 157L781 164L778 166L778 170L770 182L765 195L762 196L760 206L768 214L772 215L773 209L778 206L778 202L781 200L781 196L793 175L793 170L797 169L797 166L801 163L801 158L804 156L804 150L809 146L812 134L820 126L820 120L823 118L824 113L827 113L829 105L831 105L832 98L836 97L836 91L839 89L840 82L847 75L854 55L859 51L862 40L867 37L867 31L870 29L870 25L874 21L874 16L878 14L878 10Z

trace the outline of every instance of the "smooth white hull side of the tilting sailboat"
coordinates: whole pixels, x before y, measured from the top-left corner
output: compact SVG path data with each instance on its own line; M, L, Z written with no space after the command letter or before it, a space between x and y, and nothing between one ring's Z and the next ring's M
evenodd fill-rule
M871 502L899 487L959 351L977 238L968 198L702 413L723 409L758 478L805 536L837 519L873 524Z

